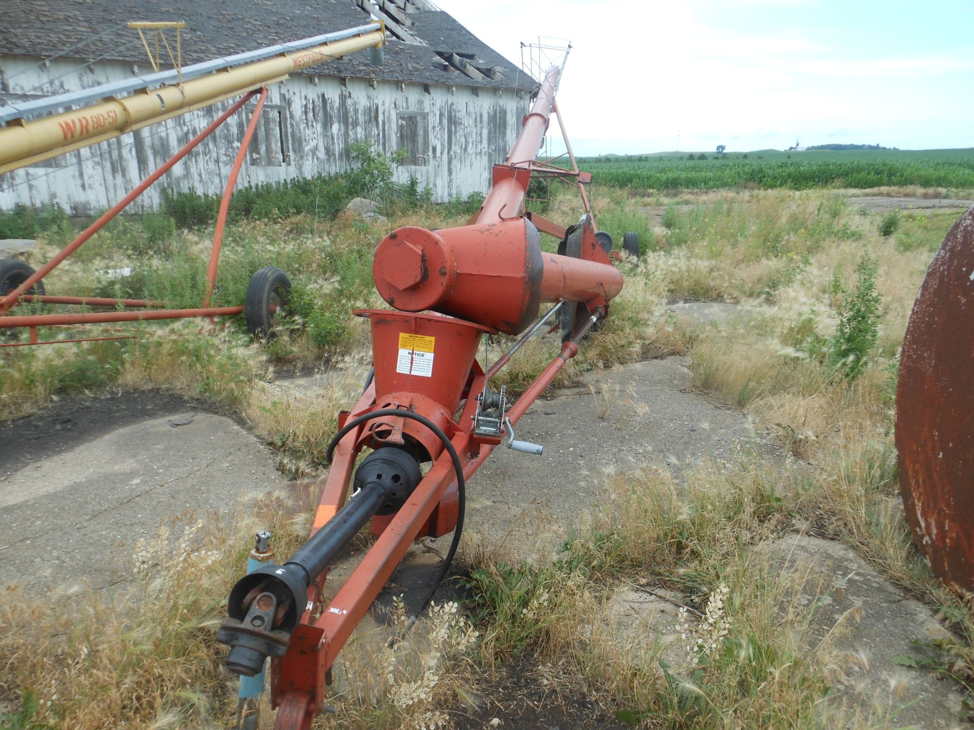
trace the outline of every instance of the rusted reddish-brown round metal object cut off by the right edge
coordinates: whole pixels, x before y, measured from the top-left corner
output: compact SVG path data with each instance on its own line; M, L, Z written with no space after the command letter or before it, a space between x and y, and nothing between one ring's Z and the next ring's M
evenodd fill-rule
M941 244L910 315L896 448L920 552L951 588L974 591L974 208Z

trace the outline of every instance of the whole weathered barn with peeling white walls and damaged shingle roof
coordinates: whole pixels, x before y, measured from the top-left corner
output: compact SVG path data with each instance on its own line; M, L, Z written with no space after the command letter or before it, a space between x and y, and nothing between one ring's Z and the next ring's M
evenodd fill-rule
M382 65L359 52L271 88L239 185L353 165L351 145L403 149L396 170L446 201L490 187L520 128L531 80L426 0L34 0L8 3L0 23L0 103L77 91L144 74L130 20L184 20L183 64L344 28L387 23ZM56 57L55 57L56 56ZM230 102L0 174L0 209L57 202L76 214L121 199ZM252 105L252 102L251 102ZM238 114L177 164L159 187L219 194L247 115ZM136 207L135 209L138 209Z

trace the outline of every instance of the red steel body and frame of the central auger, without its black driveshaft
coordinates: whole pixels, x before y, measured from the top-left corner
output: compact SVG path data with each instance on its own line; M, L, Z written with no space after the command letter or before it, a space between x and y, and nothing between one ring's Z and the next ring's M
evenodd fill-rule
M478 436L473 430L477 409L475 396L484 390L485 384L508 359L503 357L485 374L486 363L474 359L482 335L497 332L498 328L508 334L523 331L527 327L524 312L532 310L534 316L539 300L576 301L587 307L587 318L580 320L582 324L577 326L572 338L506 411L509 422L517 423L565 363L577 354L581 337L597 319L607 314L608 301L621 287L621 276L595 238L583 187L590 178L579 171L571 147L568 147L571 170L535 161L549 114L556 110L554 92L560 72L560 68L548 72L506 163L494 167L493 189L468 226L435 234L417 227L405 227L380 243L373 265L376 286L387 302L399 311L356 311L371 320L375 378L352 411L340 414L339 426L379 409L406 408L421 414L446 433L461 457L465 479L501 441L496 437ZM563 126L561 130L564 135ZM565 142L567 145L567 136ZM578 184L582 204L588 213L580 224L581 254L571 258L545 253L543 272L532 269L535 265L529 261L524 264L524 273L519 273L525 259L523 239L537 238L534 227L556 237L566 234L565 228L525 212L531 174L539 171L574 178ZM533 226L525 221L533 222ZM444 264L440 267L440 259L436 256L444 246L450 256L443 259ZM486 256L482 255L485 252ZM531 256L529 252L527 259ZM502 266L494 271L491 262L496 260L500 260ZM451 266L463 271L458 274L451 271ZM483 269L476 270L477 266ZM438 293L437 276L447 282L442 287L444 294ZM434 290L432 294L431 289ZM523 295L526 304L514 312L514 318L521 317L520 320L515 322L507 313L498 313L504 306L499 304L502 300L518 299L523 292L533 292L534 299L528 301L531 297ZM438 298L433 301L431 297ZM426 309L440 313L409 313ZM468 312L468 316L457 318L460 316L457 310ZM444 313L452 316L444 316ZM487 322L499 324L494 327ZM397 364L396 359L402 356L402 350L396 347L402 347L403 337L435 340L434 367L437 370L432 377L403 373L401 360ZM398 342L396 338L399 338ZM444 395L447 391L449 395ZM458 411L461 415L454 419ZM325 686L331 682L331 667L339 651L389 580L410 543L422 536L446 534L457 524L457 477L443 445L413 420L380 417L360 423L338 443L312 534L345 504L359 452L365 447L401 444L404 435L427 450L432 460L431 469L395 514L372 518L372 532L377 535L377 540L330 602L325 604L322 599L327 570L312 582L306 610L291 636L286 653L281 658L272 659L272 704L279 710L275 724L279 730L311 727L315 714L325 707Z

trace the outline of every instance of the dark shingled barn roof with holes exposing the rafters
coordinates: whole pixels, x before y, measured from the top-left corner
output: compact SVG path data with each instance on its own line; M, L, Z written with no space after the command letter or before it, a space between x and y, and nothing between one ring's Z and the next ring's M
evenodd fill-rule
M355 27L371 16L387 20L383 65L373 66L367 52L358 52L303 73L490 89L530 89L533 84L425 0L376 0L375 5L367 0L32 0L5 8L0 55L145 64L142 43L125 23L184 20L185 65ZM69 49L74 50L65 54Z

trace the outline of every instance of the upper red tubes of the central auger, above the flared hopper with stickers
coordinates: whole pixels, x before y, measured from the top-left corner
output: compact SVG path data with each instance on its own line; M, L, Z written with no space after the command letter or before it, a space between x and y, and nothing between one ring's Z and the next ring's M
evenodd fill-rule
M561 69L551 68L524 128L507 156L494 166L494 186L467 226L428 231L406 226L385 237L376 249L372 276L379 294L397 310L432 310L468 319L508 335L523 332L542 302L583 302L589 311L604 308L622 288L622 276L595 237L591 208L571 145L572 170L538 163ZM559 125L564 126L559 116ZM581 256L543 253L543 231L566 229L525 214L533 173L575 176L587 218L581 223Z

